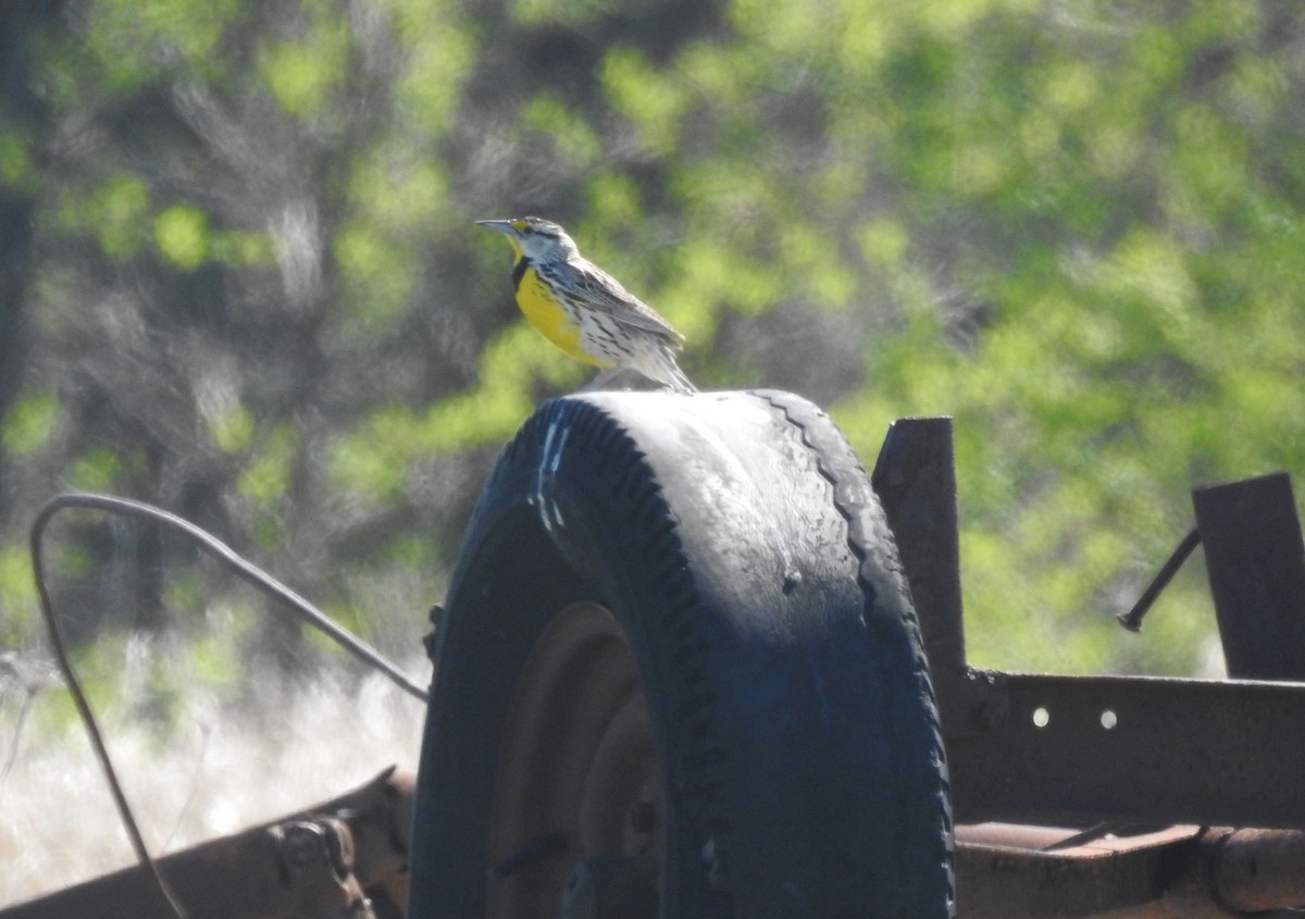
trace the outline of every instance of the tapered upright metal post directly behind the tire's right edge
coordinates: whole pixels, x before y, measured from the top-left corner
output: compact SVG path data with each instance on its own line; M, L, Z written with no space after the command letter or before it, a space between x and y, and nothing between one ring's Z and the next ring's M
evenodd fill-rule
M957 470L950 418L903 418L889 427L870 484L883 504L907 573L944 732L968 730L963 679Z

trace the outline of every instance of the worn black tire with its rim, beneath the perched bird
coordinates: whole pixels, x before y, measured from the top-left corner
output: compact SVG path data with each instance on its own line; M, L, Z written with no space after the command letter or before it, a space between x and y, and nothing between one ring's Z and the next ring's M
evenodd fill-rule
M953 915L919 627L809 402L544 403L437 619L411 916Z

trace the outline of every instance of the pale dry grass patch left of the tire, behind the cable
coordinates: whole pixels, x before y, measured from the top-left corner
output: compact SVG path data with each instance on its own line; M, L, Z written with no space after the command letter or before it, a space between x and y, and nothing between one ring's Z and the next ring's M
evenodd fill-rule
M419 681L428 676L416 662L407 670ZM191 700L167 741L141 724L106 718L110 752L153 852L313 804L390 764L416 769L424 709L384 678L359 684L328 675L298 688L269 685L261 701L258 711L230 715ZM0 710L0 745L13 714ZM0 782L0 905L132 862L85 735L23 738Z

